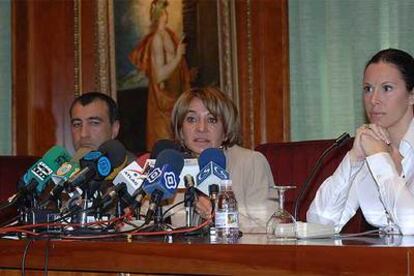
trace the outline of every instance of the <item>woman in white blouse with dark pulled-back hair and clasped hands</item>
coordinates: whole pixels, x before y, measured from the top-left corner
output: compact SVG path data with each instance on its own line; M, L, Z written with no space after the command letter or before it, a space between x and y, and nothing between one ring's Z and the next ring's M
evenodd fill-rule
M367 63L363 101L369 124L319 188L307 220L339 232L360 207L387 233L414 234L414 59L397 49Z

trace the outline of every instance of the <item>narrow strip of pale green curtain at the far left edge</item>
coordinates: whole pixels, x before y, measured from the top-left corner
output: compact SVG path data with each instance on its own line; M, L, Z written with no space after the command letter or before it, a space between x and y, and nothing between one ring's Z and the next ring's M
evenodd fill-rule
M0 154L11 154L11 0L0 1Z

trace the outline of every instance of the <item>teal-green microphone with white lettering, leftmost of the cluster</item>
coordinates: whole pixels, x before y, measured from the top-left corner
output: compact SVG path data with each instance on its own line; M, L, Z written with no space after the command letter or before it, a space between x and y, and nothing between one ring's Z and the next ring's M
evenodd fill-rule
M61 146L53 146L38 160L19 180L18 192L9 197L10 204L18 201L22 196L42 193L50 181L53 173L70 160L71 156Z

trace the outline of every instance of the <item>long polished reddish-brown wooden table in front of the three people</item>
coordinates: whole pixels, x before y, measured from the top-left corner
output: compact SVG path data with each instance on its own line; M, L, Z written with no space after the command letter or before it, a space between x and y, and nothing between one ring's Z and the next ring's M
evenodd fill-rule
M19 271L27 242L0 239L0 268ZM210 244L201 238L170 242L37 240L31 242L25 263L27 270L43 270L48 251L49 271L173 275L410 275L414 271L413 237L396 245L385 245L379 238L277 244L260 234L246 234L237 244Z

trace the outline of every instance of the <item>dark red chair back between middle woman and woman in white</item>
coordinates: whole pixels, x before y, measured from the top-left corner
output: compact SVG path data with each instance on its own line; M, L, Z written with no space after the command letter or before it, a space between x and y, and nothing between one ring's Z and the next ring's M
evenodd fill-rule
M293 185L296 186L294 191L288 190L285 194L285 208L293 215L295 199L299 195L301 187L309 177L312 168L325 149L331 146L335 140L313 140L300 142L285 143L268 143L256 147L256 150L263 153L267 158L273 173L276 185ZM319 186L330 176L345 154L352 148L352 140L348 141L340 148L331 151L320 170L309 185L309 190L303 197L301 208L298 212L298 218L301 221L306 220L306 211L308 210ZM355 233L365 230L366 221L362 213L358 210L357 214L343 228L342 232Z

